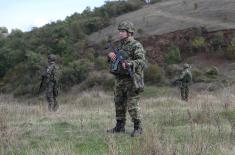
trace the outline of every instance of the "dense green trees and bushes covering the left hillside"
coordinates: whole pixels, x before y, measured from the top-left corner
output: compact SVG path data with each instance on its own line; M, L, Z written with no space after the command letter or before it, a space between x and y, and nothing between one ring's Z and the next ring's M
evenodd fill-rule
M69 88L81 83L91 70L106 68L105 58L88 48L87 35L107 27L112 17L139 9L142 5L141 0L106 1L99 8L87 7L81 14L74 13L64 21L32 28L27 33L14 29L5 35L8 30L0 27L1 85L9 88L6 90L16 90L16 94L32 91L38 85L39 72L45 67L50 53L60 59L62 86ZM29 80L33 82L29 83Z

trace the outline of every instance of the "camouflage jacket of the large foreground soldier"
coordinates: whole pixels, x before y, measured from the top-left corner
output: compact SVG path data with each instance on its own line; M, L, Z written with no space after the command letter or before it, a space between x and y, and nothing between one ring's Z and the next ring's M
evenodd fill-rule
M132 66L133 83L136 89L144 88L144 68L146 66L145 50L140 42L133 37L121 40L117 50ZM128 71L125 70L127 73ZM128 73L127 73L128 74ZM119 78L119 75L116 75Z

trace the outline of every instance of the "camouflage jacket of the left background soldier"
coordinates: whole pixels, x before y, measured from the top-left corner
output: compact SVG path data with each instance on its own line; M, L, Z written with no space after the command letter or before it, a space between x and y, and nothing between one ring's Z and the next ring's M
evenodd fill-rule
M52 62L50 63L45 72L42 75L46 80L46 83L53 82L58 83L59 82L59 68L58 66Z

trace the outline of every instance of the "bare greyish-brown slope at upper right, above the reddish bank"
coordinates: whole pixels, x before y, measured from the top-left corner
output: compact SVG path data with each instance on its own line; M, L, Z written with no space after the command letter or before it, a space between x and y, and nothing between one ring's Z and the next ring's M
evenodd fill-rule
M123 20L132 21L144 35L199 26L209 31L230 29L235 28L235 0L165 0L115 18L111 26L93 33L89 40L97 43L107 36L116 40L117 24Z

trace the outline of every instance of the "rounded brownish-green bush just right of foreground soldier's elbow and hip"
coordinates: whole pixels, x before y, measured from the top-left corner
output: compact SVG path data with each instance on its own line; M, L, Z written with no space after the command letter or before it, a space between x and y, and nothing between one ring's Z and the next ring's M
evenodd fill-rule
M160 83L164 80L164 72L157 64L150 64L145 71L145 81L150 84Z

